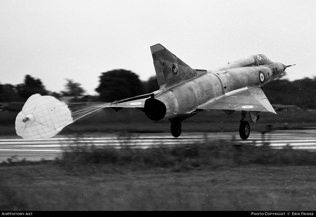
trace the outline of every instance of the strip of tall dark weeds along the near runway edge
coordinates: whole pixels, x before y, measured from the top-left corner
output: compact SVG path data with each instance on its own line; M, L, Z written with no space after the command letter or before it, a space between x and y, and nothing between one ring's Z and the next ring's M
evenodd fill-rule
M109 146L71 146L64 152L62 164L111 164L133 168L170 168L173 171L199 169L208 166L316 165L316 152L294 150L290 146L273 149L254 144L239 145L233 140L205 140L196 144L182 144L147 149L133 148L132 142L122 141L119 148ZM182 169L181 169L182 168Z

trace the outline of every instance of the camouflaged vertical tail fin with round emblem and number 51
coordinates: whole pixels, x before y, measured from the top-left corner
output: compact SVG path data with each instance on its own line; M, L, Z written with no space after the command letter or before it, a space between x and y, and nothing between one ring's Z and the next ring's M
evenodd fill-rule
M150 47L159 86L173 86L196 76L196 70L168 51L161 44Z

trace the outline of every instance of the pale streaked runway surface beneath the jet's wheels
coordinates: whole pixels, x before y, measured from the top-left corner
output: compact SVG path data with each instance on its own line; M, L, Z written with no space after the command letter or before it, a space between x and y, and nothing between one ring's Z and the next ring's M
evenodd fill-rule
M57 136L51 139L1 139L0 162L3 161L39 161L61 158L63 152L71 150L73 146L110 146L120 148L131 146L134 148L148 148L150 146L177 146L209 140L234 140L234 144L263 145L274 148L291 146L293 149L316 150L316 130L283 130L270 133L252 132L247 140L242 140L238 132L219 133L182 133L174 138L170 133L144 133L89 135L83 137Z

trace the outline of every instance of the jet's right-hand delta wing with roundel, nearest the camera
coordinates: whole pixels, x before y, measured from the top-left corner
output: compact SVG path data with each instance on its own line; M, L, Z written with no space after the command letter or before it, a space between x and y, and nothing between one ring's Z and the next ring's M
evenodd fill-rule
M196 109L243 110L276 114L260 87L241 88L212 99Z

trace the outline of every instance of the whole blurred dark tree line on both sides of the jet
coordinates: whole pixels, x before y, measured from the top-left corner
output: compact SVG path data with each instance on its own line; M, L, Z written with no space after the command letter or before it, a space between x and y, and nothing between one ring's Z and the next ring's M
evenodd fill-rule
M103 102L113 102L159 89L155 76L147 81L141 81L136 73L125 69L102 72L99 78L99 85L95 89L99 96L94 97L94 100ZM263 90L271 104L296 105L303 109L316 108L316 77L295 81L276 79L266 84ZM59 93L51 92L46 90L39 78L30 75L25 76L22 84L0 83L0 102L25 102L35 93L55 97L78 97L84 96L85 90L81 84L66 79L65 90Z

